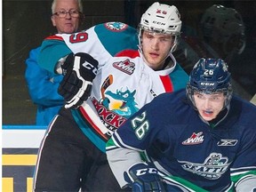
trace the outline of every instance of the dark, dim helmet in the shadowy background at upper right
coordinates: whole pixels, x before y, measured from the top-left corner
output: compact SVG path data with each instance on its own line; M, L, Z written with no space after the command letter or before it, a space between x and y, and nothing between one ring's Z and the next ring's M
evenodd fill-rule
M236 36L239 41L236 45L235 51L241 53L245 47L244 36L244 21L239 12L233 8L227 8L220 4L213 4L210 8L206 9L200 26L204 39L213 42L223 43L223 51L228 53L228 40ZM237 36L238 39L237 39Z

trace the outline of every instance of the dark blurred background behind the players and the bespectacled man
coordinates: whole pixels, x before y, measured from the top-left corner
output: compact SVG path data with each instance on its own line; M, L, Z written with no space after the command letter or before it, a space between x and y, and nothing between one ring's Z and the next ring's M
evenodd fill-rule
M151 0L84 0L83 28L106 21L123 21L137 27L142 12ZM238 93L251 100L256 93L256 3L255 1L178 1L159 3L176 5L180 11L183 35L196 35L198 20L212 4L235 8L244 20L244 52L229 62ZM2 98L3 124L35 124L36 105L30 100L24 78L28 52L39 46L46 36L55 33L51 22L50 0L3 0ZM188 34L187 34L188 33ZM240 87L240 88L239 88Z

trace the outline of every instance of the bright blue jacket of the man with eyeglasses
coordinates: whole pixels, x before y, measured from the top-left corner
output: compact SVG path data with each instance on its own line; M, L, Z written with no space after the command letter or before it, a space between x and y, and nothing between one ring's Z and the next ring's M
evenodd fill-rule
M37 64L40 49L37 47L29 52L25 78L31 100L37 105L36 125L48 125L64 104L58 93L63 76L53 74Z

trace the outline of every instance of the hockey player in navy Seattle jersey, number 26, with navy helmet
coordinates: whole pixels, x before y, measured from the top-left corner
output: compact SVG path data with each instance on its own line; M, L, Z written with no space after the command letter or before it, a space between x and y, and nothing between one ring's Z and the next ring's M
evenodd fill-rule
M132 191L255 191L256 107L232 95L225 61L200 59L186 89L164 93L107 143Z

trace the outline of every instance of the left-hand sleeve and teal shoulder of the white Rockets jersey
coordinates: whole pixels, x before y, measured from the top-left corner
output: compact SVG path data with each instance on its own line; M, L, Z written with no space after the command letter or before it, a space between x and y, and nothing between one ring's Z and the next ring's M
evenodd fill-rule
M112 56L124 50L138 50L139 41L136 29L122 22L102 23L81 33L87 34L86 38L83 41L76 39L76 42L71 42L70 35L67 34L47 37L38 56L39 65L54 73L55 65L60 58L71 52L87 52L92 55L94 53L96 56L99 52L97 47L99 44L102 44L104 50ZM76 37L78 35L79 32Z

